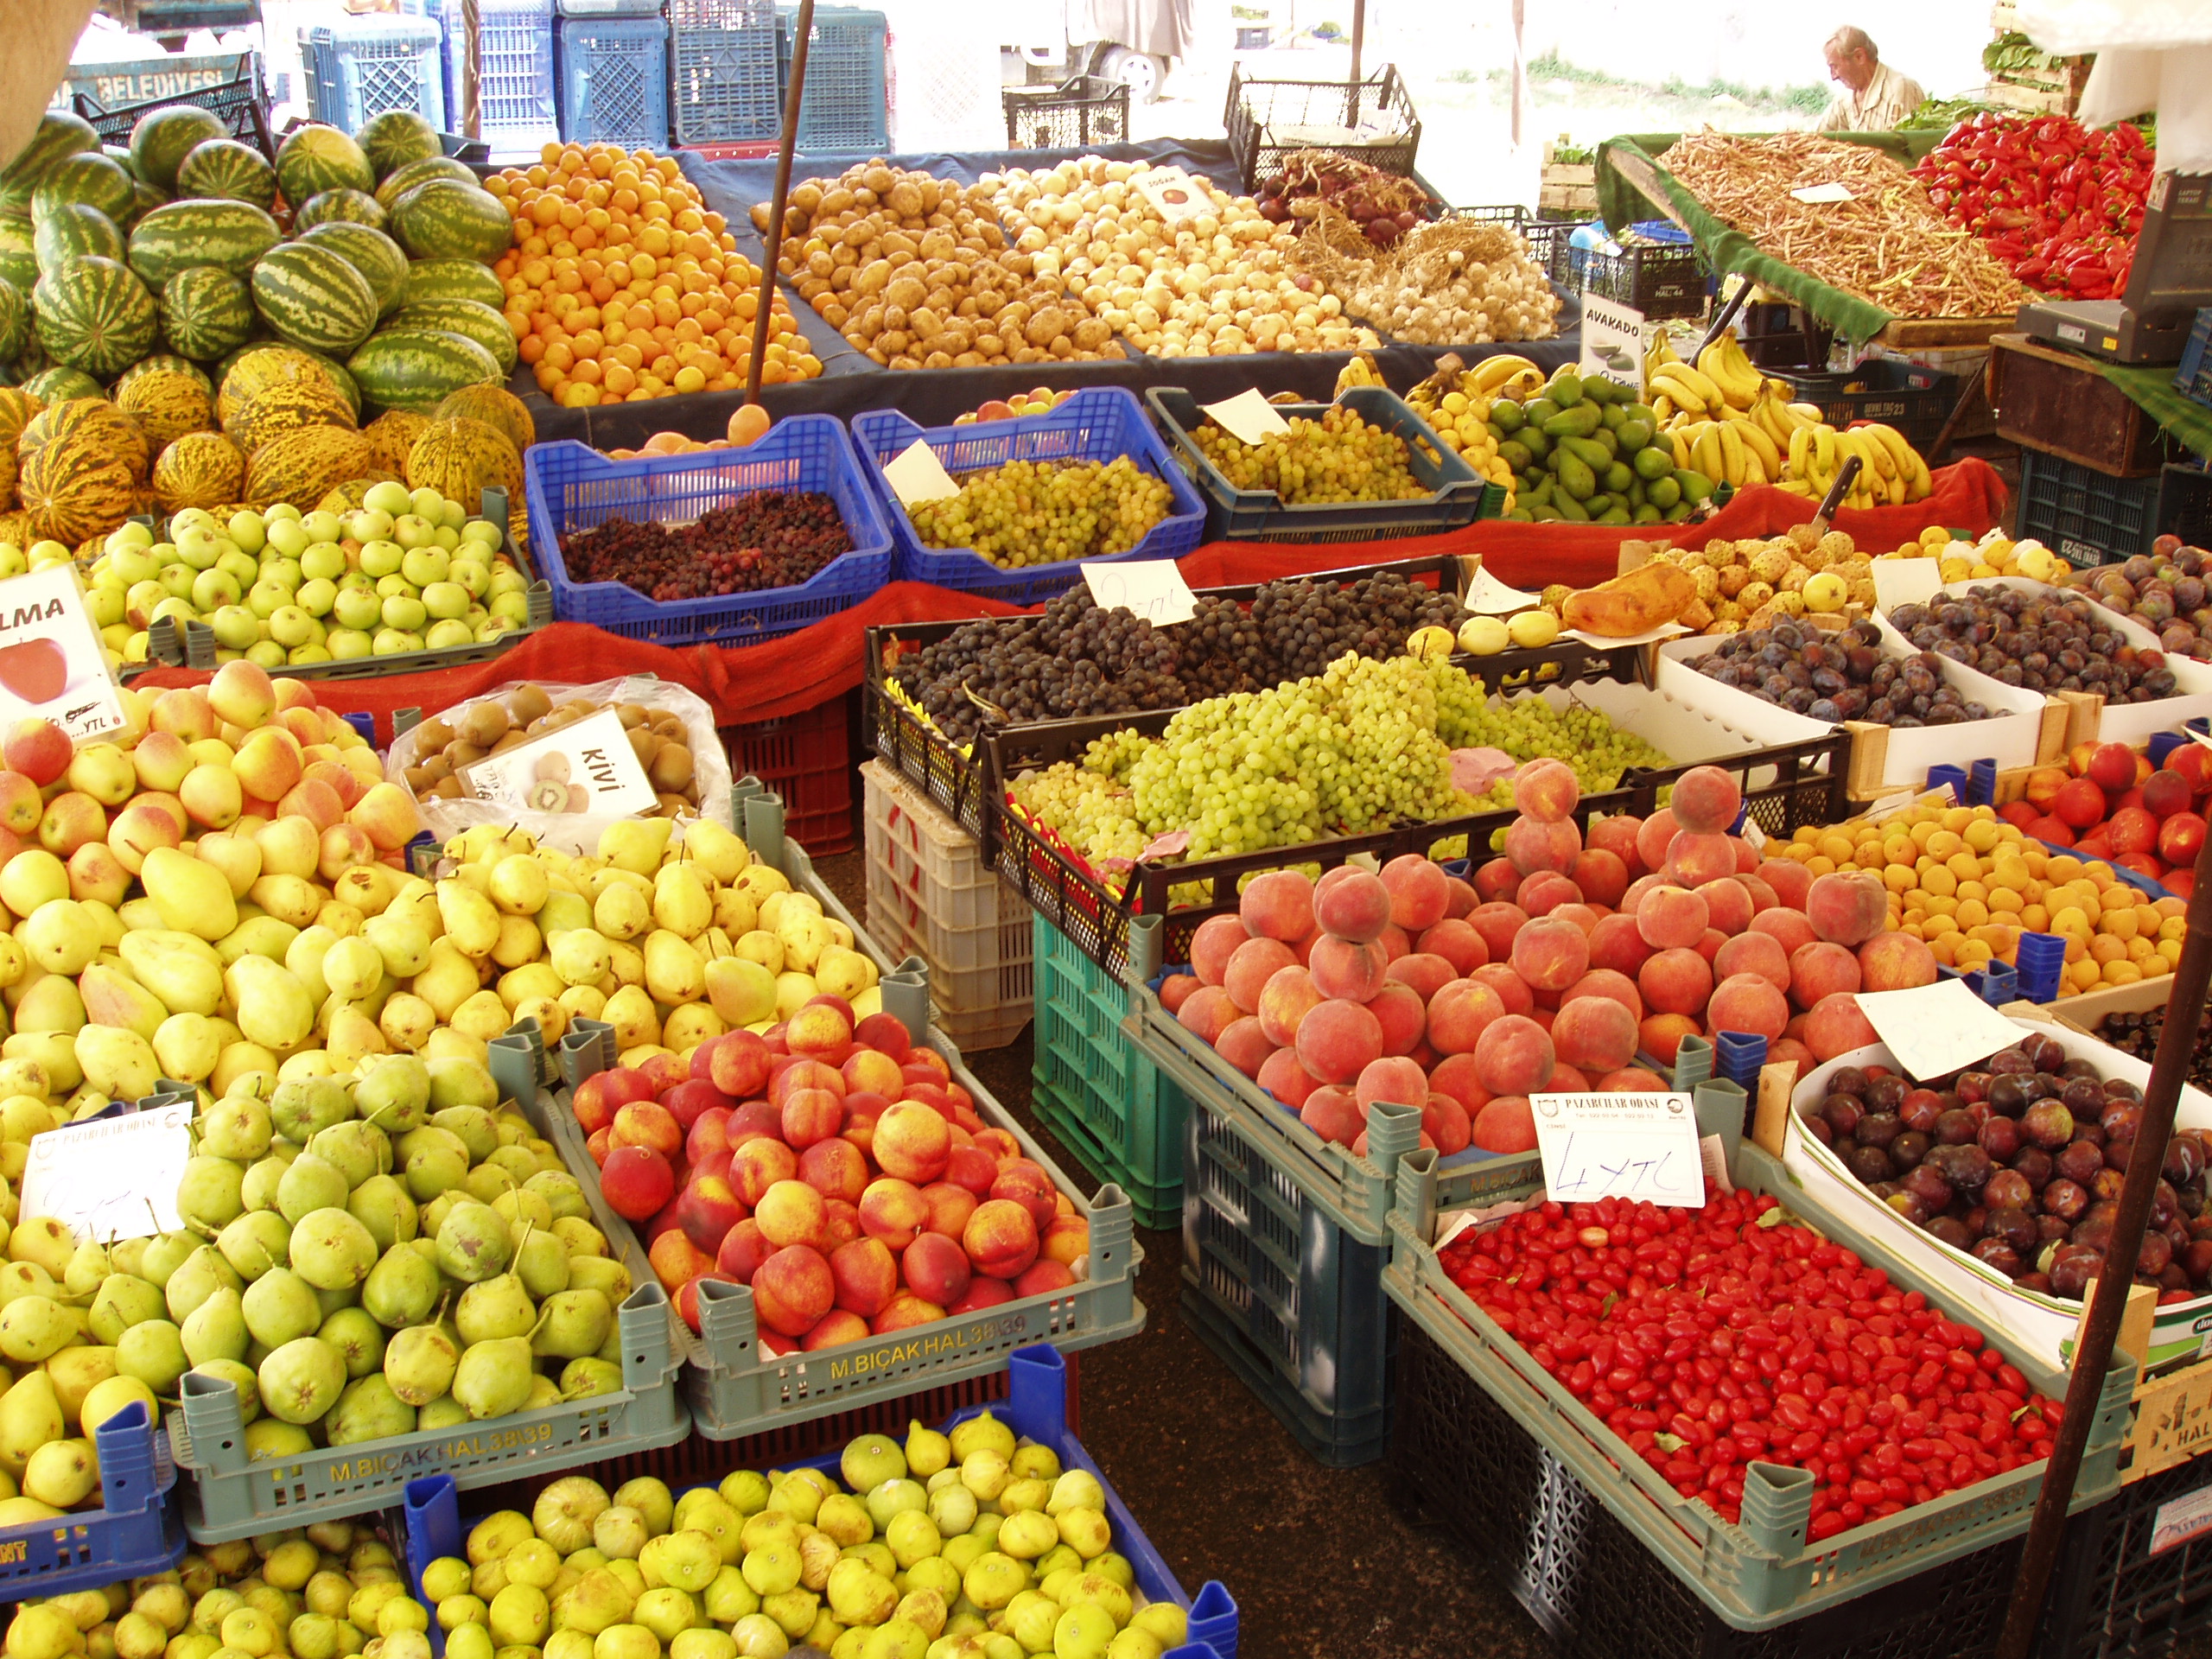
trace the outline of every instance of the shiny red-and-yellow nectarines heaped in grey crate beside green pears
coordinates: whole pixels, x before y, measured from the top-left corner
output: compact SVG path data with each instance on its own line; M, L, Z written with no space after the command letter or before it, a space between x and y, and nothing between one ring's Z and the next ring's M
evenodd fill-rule
M688 1066L602 1071L573 1104L692 1329L708 1279L750 1285L763 1347L790 1354L1064 1290L1091 1259L1091 1223L945 1057L836 995Z

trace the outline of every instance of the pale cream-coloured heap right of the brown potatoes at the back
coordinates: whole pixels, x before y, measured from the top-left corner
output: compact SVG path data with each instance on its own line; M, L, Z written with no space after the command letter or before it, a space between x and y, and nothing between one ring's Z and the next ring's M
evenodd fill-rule
M989 173L1013 246L1040 276L1066 288L1152 356L1356 352L1374 330L1294 270L1296 232L1270 223L1250 197L1199 179L1208 212L1168 230L1137 190L1148 161L1086 155L1048 173Z

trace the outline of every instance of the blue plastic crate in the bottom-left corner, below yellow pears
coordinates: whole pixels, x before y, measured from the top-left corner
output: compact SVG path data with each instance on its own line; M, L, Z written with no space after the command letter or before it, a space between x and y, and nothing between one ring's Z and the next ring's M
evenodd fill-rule
M0 1601L170 1571L186 1551L168 1436L126 1405L93 1431L102 1509L0 1528Z

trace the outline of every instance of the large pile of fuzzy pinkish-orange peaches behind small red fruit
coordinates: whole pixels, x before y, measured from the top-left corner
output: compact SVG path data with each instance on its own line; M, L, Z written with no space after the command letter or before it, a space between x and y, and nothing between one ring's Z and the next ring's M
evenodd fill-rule
M1588 843L1559 761L1524 765L1513 803L1473 883L1418 854L1254 878L1161 1004L1323 1139L1365 1152L1369 1102L1418 1104L1449 1157L1533 1148L1533 1093L1659 1088L1688 1035L1756 1033L1809 1068L1874 1042L1858 991L1936 982L1927 945L1882 931L1878 876L1816 878L1728 834L1721 768Z

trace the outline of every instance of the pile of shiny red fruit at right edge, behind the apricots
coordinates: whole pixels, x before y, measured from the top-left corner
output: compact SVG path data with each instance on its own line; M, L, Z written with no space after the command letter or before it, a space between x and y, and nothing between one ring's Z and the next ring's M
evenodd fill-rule
M2150 757L2126 743L2077 743L2064 768L2028 772L2026 794L1997 814L2037 841L2150 876L2188 898L2212 816L2212 750L2181 743L2152 770Z

